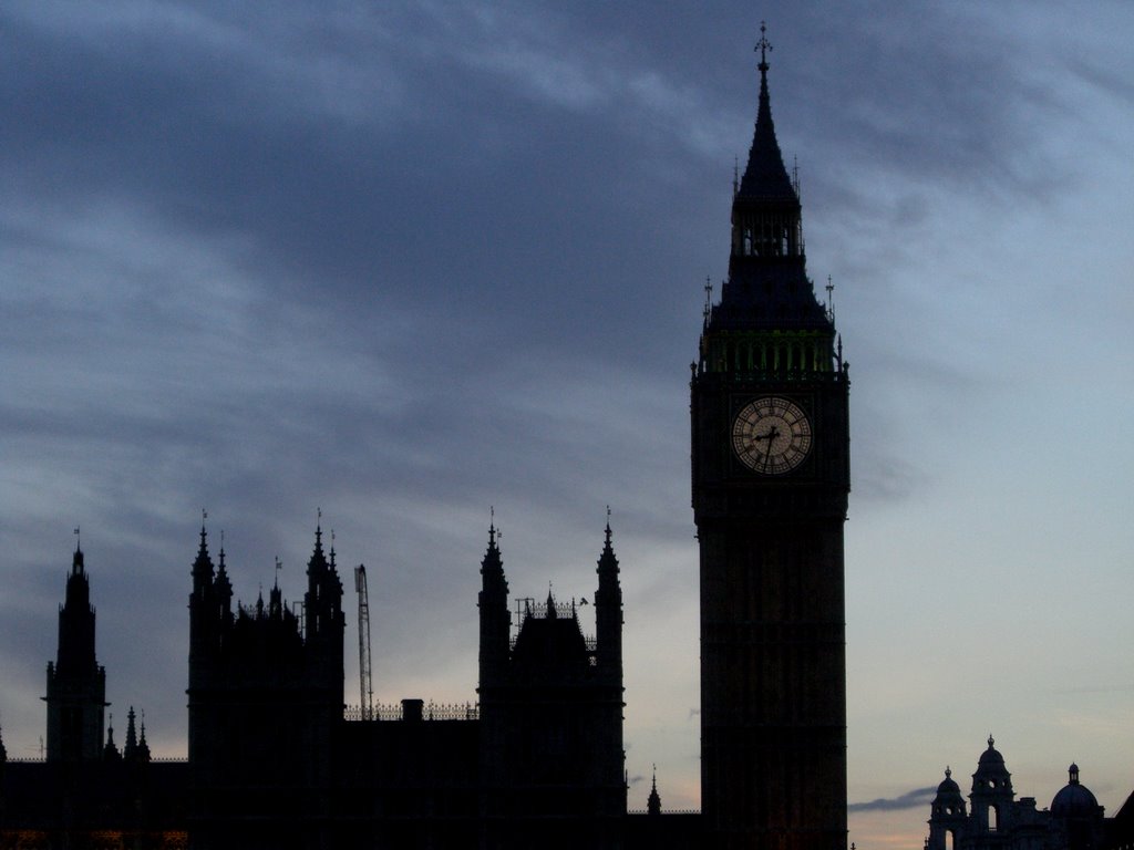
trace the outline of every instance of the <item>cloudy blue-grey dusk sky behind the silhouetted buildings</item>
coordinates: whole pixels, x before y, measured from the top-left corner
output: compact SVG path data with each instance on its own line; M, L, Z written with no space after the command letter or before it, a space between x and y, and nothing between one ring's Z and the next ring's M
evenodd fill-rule
M75 539L117 729L185 751L202 507L236 594L370 576L383 702L475 699L514 596L625 594L632 806L699 805L688 363L769 22L852 377L850 801L1134 789L1134 8L9 3L0 724L39 751ZM587 609L584 609L589 612ZM587 614L584 614L584 618ZM590 627L587 627L589 629ZM120 734L119 734L120 739ZM917 848L928 804L852 811Z

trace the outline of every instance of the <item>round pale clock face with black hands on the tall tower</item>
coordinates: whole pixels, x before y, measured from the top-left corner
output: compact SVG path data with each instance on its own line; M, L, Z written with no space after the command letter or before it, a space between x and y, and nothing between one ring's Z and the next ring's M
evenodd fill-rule
M782 475L799 466L811 451L811 423L794 402L764 396L737 414L733 450L750 469Z

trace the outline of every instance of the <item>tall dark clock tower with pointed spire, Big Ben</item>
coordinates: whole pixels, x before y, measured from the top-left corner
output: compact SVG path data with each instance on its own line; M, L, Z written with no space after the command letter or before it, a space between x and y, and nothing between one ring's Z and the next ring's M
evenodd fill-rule
M846 847L847 368L768 96L691 384L705 847Z

